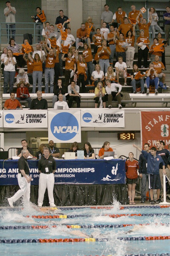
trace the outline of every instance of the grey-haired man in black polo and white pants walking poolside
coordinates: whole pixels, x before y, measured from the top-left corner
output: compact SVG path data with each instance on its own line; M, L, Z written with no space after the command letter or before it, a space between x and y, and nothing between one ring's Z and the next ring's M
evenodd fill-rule
M29 202L30 199L30 181L32 180L29 176L29 166L26 158L29 156L28 149L22 149L21 157L18 160L18 184L20 189L13 195L9 197L9 205L13 206L13 203L17 201L23 195L23 201Z

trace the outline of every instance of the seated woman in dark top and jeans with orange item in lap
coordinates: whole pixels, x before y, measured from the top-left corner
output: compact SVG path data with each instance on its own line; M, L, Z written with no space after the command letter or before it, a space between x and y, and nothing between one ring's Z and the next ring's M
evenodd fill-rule
M136 86L141 87L141 93L144 94L144 77L141 76L138 79L135 79L135 75L139 72L139 68L137 64L133 64L133 70L131 72L131 86L133 87L133 93L137 93ZM141 75L143 75L143 72L141 72Z

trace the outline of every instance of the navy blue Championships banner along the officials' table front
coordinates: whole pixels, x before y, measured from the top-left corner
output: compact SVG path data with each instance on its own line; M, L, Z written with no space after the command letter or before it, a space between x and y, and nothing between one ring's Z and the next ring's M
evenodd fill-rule
M39 185L38 160L28 160L31 185ZM18 185L18 160L0 160L0 186ZM55 184L125 184L125 159L56 160Z

